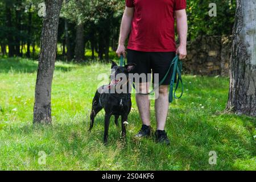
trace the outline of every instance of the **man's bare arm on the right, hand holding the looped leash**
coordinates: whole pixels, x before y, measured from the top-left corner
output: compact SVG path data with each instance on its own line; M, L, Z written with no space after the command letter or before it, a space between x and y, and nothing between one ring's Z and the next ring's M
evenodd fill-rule
M177 54L179 59L185 59L187 56L187 34L188 34L188 23L187 14L185 10L175 11L177 21L177 33L180 39L180 46L177 48Z

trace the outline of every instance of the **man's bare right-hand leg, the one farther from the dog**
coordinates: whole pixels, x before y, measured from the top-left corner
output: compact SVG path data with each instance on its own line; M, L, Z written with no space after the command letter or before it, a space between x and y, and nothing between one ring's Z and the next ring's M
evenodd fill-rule
M155 116L158 130L164 130L168 109L168 85L161 85L159 86L159 97L155 100Z

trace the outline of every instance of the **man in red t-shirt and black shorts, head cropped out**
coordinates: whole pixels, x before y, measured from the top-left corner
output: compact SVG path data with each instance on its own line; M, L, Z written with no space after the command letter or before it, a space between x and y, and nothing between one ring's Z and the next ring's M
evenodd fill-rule
M125 40L130 33L127 46L127 61L135 63L134 73L158 73L162 80L175 55L185 59L187 55L187 14L185 0L126 0L126 9L123 14L119 45L116 51L118 56L125 56ZM180 45L176 49L175 26ZM170 144L164 127L168 113L168 85L171 73L159 87L159 97L155 100L155 115L157 130L156 142ZM154 80L153 80L154 82ZM148 93L150 83L135 83L142 93ZM142 119L142 128L136 137L148 137L150 127L150 100L148 96L136 94L139 114Z

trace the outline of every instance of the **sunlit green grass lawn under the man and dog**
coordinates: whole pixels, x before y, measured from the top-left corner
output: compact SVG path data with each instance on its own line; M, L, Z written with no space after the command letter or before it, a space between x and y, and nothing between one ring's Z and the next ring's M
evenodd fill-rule
M109 144L102 143L104 112L88 133L89 111L110 65L56 63L52 126L33 126L37 62L0 59L1 170L256 170L255 118L225 113L226 77L184 75L184 96L170 105L166 130L171 146L134 139L141 127L133 95L127 145L113 118ZM155 128L154 104L151 104ZM47 154L39 165L39 152ZM209 152L217 152L210 165Z

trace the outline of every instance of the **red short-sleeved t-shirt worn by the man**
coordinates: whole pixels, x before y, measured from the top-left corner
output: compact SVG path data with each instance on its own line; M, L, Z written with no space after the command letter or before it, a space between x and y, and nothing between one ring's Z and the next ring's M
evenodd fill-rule
M127 48L144 52L175 52L174 11L186 8L186 0L126 0L134 7Z

